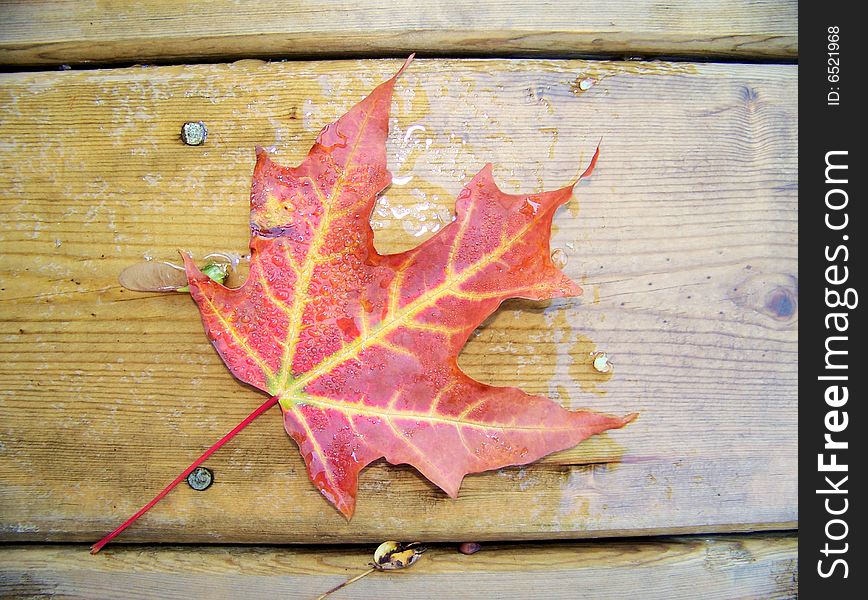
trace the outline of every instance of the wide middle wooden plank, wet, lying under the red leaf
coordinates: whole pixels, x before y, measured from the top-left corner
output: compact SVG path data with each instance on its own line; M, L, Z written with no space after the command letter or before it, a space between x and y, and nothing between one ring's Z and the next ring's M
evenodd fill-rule
M0 539L95 541L264 397L184 294L118 274L177 249L244 253L254 145L297 163L395 60L0 75ZM552 246L582 297L508 301L474 378L638 412L457 500L374 463L347 522L278 410L125 541L476 541L792 528L797 522L797 67L420 60L398 82L372 216L384 252L448 223L485 163L508 192L593 176ZM586 88L586 89L583 89ZM203 120L207 142L179 141ZM399 185L400 183L400 185ZM233 279L230 279L232 283ZM237 277L235 283L238 283ZM591 366L606 352L612 373Z

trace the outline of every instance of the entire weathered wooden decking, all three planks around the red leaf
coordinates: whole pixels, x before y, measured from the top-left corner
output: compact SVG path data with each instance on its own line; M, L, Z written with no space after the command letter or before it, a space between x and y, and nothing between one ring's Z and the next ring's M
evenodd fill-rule
M471 576L516 594L533 582L565 596L591 582L599 597L795 593L795 534L735 533L798 520L795 3L633 2L621 16L576 3L559 26L527 7L486 19L493 8L478 4L454 5L443 27L433 9L398 6L389 19L371 4L358 22L379 27L350 33L328 3L269 18L211 3L207 32L201 19L184 29L180 3L96 15L73 2L63 21L52 4L0 4L0 63L11 71L179 63L0 74L0 593L111 597L125 581L142 597L180 597L187 583L216 581L196 595L242 586L310 597L372 551L315 544L388 538L501 545L470 557L436 547L345 597L458 594ZM315 50L301 30L321 33ZM272 44L278 34L286 41ZM278 414L266 414L209 461L215 485L177 489L121 538L199 546L92 558L85 546L45 545L95 541L262 401L223 366L188 297L123 290L118 273L179 247L243 253L254 145L297 162L399 64L336 57L414 42L423 52L398 82L387 148L405 183L375 210L378 248L405 249L448 222L485 163L507 191L552 188L602 140L593 177L554 227L585 295L506 303L460 362L488 383L639 420L470 476L458 500L376 463L347 522L309 483ZM426 49L500 58L426 59ZM693 58L502 58L528 52ZM278 55L329 60L183 64ZM782 62L697 58L733 55ZM200 119L208 141L184 146L181 124ZM590 367L595 350L612 375ZM686 533L703 537L668 537ZM611 536L630 540L502 545ZM303 546L263 546L285 543Z

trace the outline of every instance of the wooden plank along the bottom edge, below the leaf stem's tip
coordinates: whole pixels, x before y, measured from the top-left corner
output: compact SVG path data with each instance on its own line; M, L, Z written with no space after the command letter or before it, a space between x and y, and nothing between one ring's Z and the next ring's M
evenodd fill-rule
M796 598L795 535L437 545L405 571L372 573L331 598ZM315 598L366 569L372 548L83 545L0 547L4 597Z

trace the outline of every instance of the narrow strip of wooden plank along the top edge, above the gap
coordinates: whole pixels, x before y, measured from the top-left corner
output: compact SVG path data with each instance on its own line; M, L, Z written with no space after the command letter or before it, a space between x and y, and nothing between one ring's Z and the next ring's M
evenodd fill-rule
M0 0L0 64L407 55L795 60L795 0Z

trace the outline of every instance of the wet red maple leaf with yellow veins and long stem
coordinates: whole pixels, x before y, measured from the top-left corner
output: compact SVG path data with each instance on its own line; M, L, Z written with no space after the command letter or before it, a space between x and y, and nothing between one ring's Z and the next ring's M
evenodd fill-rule
M568 411L458 366L468 336L507 298L581 294L549 249L552 217L575 183L506 194L486 165L458 195L451 224L412 250L375 250L369 218L391 182L392 91L410 60L327 125L299 166L257 149L250 274L240 288L184 257L217 352L270 398L173 485L274 404L314 485L348 518L359 472L378 458L413 465L455 497L468 473L526 464L635 418Z

